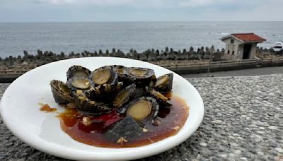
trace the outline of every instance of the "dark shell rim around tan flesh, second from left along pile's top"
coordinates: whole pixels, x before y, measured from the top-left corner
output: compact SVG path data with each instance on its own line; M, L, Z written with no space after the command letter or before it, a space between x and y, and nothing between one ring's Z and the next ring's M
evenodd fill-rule
M100 67L100 68L96 68L96 70L91 72L91 75L89 76L89 79L91 80L91 84L93 85L93 87L97 86L97 85L101 85L101 84L96 84L93 81L93 74L96 73L97 71L102 71L102 70L110 71L110 79L108 79L108 81L104 84L111 84L112 85L112 84L117 83L118 76L117 76L117 73L114 71L114 67L113 66L103 66L103 67Z

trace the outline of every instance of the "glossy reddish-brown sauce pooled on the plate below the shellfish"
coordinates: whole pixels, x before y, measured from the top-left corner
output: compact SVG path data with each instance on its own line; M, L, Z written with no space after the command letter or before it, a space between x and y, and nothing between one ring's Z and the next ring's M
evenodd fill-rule
M108 148L137 147L173 136L185 124L189 107L187 107L184 100L176 96L171 97L171 103L171 107L161 107L159 110L158 125L151 122L146 123L144 133L134 137L131 141L124 141L123 143L110 141L104 135L111 124L122 119L116 112L104 114L100 117L90 117L91 124L88 126L82 123L83 116L76 109L67 109L58 117L61 120L63 131L81 143Z

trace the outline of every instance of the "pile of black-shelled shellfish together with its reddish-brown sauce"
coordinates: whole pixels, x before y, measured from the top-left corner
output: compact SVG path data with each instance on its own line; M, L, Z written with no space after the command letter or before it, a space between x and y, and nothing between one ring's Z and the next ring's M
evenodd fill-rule
M50 81L62 130L81 143L108 148L148 145L175 135L188 106L174 95L173 73L120 65L91 71L74 65L67 81Z

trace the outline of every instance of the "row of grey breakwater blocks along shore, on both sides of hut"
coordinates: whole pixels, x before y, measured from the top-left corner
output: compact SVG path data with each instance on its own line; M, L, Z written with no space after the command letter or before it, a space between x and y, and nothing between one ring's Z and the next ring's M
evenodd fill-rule
M23 56L8 56L4 59L0 57L0 73L25 73L30 69L48 64L53 61L90 56L115 56L149 61L150 63L160 66L176 67L179 64L185 64L186 66L190 67L194 64L207 64L210 57L212 58L212 61L221 61L223 60L224 53L224 49L216 49L216 51L211 54L209 52L209 47L201 47L196 51L192 47L190 47L188 50L183 49L182 51L175 51L172 48L169 49L166 47L166 49L161 51L158 49L147 49L141 53L138 53L134 49L131 49L127 53L122 52L120 49L112 49L112 51L107 49L105 52L99 50L98 52L84 51L81 53L71 52L69 54L65 54L64 52L61 52L60 54L48 51L42 52L40 49L38 49L36 54L29 54L28 52L23 51ZM257 50L257 56L260 57L260 59L266 59L277 55L283 55L283 50L279 52L275 52L272 49L262 48L258 48Z

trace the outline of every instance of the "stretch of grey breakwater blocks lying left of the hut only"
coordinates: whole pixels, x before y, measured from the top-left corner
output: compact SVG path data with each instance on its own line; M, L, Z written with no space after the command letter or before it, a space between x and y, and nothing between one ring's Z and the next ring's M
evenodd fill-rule
M216 50L214 54L214 60L221 59L221 56L223 54L224 49L222 49L221 51ZM148 49L141 53L138 53L134 49L131 49L127 53L122 52L120 49L112 49L111 52L109 50L106 50L105 52L99 50L98 52L84 51L81 53L71 52L69 54L65 54L64 52L61 52L60 54L56 54L54 52L49 51L42 52L38 49L36 54L29 54L28 52L23 51L23 56L8 56L5 59L0 58L0 72L25 71L28 69L35 68L37 66L48 64L53 61L90 56L115 56L129 59L137 59L141 61L149 61L154 64L159 64L158 61L163 61L163 63L164 61L166 61L166 64L168 64L169 61L174 60L202 61L210 58L210 52L208 47L201 47L200 49L197 49L197 51L195 51L192 47L188 51L186 49L183 49L183 51L175 51L166 47L165 50L161 51L159 51L158 49Z

